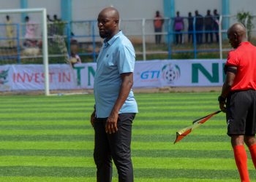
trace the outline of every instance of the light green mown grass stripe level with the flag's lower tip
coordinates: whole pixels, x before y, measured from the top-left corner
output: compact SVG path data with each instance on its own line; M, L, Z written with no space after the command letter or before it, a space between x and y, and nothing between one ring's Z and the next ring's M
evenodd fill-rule
M134 150L230 150L230 142L132 142ZM0 149L94 149L94 141L0 141Z

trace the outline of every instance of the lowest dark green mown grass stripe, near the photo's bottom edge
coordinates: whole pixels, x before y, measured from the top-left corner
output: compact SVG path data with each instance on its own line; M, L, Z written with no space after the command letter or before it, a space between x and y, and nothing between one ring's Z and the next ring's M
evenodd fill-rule
M95 177L94 167L0 167L0 174L4 176L41 176L41 177ZM255 170L249 170L255 180ZM116 175L116 174L114 174ZM3 176L3 175L1 175ZM192 170L192 169L137 169L135 176L143 178L188 178L192 179L230 179L238 180L237 170Z

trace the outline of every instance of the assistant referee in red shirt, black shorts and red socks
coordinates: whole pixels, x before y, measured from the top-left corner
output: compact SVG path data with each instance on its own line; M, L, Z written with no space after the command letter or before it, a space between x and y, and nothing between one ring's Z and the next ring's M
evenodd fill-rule
M226 113L227 135L231 137L241 181L249 181L244 143L256 168L256 47L246 38L246 28L233 24L227 31L231 46L225 64L226 79L219 108Z

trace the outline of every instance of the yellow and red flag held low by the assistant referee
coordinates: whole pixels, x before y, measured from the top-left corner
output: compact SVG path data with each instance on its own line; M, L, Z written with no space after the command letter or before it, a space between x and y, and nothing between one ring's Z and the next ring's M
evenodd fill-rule
M174 141L174 144L177 143L178 141L181 141L181 139L184 138L185 136L187 136L190 132L192 132L192 130L195 130L201 124L203 124L208 119L210 119L212 116L214 116L215 114L219 114L220 112L221 111L216 111L212 114L208 114L207 116L203 116L200 119L196 119L195 121L193 121L192 126L185 127L183 129L179 130L178 132L176 132L176 141Z

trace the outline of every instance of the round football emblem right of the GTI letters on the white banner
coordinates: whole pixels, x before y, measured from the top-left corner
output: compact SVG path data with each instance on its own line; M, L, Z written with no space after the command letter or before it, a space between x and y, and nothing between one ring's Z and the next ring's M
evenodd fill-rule
M167 64L162 67L162 79L167 84L173 84L181 76L181 69L177 65Z

